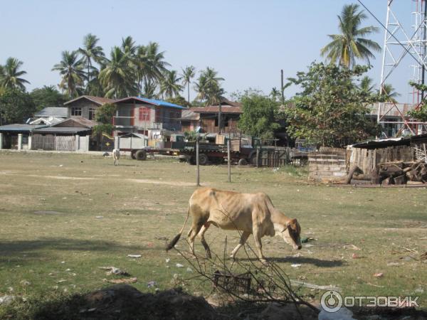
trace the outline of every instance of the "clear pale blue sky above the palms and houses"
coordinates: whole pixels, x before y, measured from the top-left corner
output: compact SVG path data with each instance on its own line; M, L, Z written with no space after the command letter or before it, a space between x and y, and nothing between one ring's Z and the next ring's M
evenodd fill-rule
M397 1L397 0L396 0ZM63 50L82 46L83 36L93 33L107 56L122 38L132 36L137 44L157 41L172 69L210 66L225 78L227 95L248 87L270 92L280 87L280 69L285 77L321 61L320 48L327 34L338 33L341 0L277 1L2 1L0 10L0 63L13 56L23 61L28 90L57 85L60 77L51 71ZM355 1L353 1L355 2ZM402 21L410 27L411 2L401 4ZM386 0L364 0L384 23ZM395 9L396 10L396 9ZM371 16L364 25L379 26ZM384 30L372 37L381 46ZM369 72L380 78L381 53ZM408 100L409 63L391 79ZM290 97L297 88L288 88ZM194 93L192 94L194 97Z

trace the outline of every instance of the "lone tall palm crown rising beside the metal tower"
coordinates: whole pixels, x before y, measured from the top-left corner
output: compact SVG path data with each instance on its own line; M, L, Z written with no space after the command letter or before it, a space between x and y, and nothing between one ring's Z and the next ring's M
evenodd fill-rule
M340 34L328 35L332 41L320 50L322 55L331 63L338 63L347 68L354 65L356 59L367 60L375 58L372 51L379 51L381 47L375 41L364 38L378 31L374 26L360 28L362 21L367 18L364 11L359 11L359 5L348 4L338 16ZM371 51L372 50L372 51Z

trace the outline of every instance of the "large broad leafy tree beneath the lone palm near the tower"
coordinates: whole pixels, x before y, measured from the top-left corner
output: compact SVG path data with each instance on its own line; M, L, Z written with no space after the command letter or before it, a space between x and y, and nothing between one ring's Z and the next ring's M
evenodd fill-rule
M371 95L354 84L368 67L353 69L312 63L307 73L297 73L297 93L285 108L288 134L321 146L345 146L376 134L376 124L368 117Z

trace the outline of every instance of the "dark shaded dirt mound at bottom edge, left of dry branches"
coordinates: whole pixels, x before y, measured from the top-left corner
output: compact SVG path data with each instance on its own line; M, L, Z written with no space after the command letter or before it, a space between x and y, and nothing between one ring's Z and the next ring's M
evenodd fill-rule
M46 306L36 319L221 319L203 297L179 290L143 294L129 284L117 284L85 297L75 296L57 305Z

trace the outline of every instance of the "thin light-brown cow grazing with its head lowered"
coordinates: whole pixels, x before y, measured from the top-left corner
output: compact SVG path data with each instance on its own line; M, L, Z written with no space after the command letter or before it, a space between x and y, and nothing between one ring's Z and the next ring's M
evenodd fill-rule
M211 257L211 250L204 238L204 233L211 224L224 230L241 232L241 240L231 252L233 258L251 234L255 240L258 257L263 262L265 262L265 258L262 252L261 238L264 235L270 235L270 237L280 235L295 250L301 249L301 228L297 219L288 218L274 208L273 203L265 193L237 193L214 188L197 189L189 200L189 209L184 225L179 234L167 245L167 251L178 242L189 215L193 218L188 234L190 251L193 255L194 238L199 235L206 250L206 257Z

